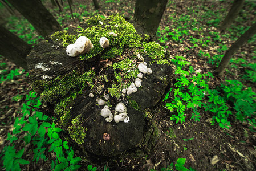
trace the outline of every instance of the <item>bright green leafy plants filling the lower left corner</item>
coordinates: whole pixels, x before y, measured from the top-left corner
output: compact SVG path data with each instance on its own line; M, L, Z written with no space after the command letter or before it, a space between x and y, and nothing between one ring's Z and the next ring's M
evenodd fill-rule
M32 161L48 160L45 154L46 150L48 150L48 152L56 154L56 160L51 162L52 169L76 170L80 168L80 165L77 165L81 160L80 157L74 158L74 151L68 146L67 141L62 141L59 138L59 132L62 129L56 127L54 123L50 123L48 116L43 115L42 112L35 111L34 108L39 108L40 105L39 97L35 92L30 91L26 95L26 103L21 108L23 116L15 119L13 132L7 135L7 141L10 141L10 145L5 146L1 152L5 169L21 170L20 164L29 164L27 160L21 158L24 148L16 153L14 146L21 131L25 132L25 136L22 139L25 144L31 143L34 146L34 149L30 151L33 155ZM33 109L31 106L33 106ZM27 117L28 119L26 120L25 118ZM47 148L48 146L50 146L50 149Z

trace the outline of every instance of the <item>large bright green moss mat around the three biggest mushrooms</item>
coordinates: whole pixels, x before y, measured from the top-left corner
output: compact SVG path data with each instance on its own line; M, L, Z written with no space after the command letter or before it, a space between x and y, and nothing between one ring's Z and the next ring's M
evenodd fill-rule
M75 35L68 34L66 30L58 31L51 35L51 39L67 47L68 44L75 43L79 36L86 36L94 44L94 47L87 54L79 55L82 60L92 58L101 53L103 53L101 58L115 58L123 53L124 48L142 47L141 40L143 38L137 34L133 25L125 21L119 14L111 15L108 18L95 16L88 19L87 23L92 27L76 30L77 34ZM112 35L111 32L114 32L117 36ZM105 51L99 44L99 40L103 36L108 38L110 44L110 47Z

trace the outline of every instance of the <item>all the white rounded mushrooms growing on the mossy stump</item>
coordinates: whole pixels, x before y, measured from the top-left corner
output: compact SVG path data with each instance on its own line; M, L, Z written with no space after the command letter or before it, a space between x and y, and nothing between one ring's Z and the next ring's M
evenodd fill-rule
M103 48L109 47L109 41L105 37L100 38L99 43L100 46ZM89 52L92 47L94 46L91 43L90 39L86 38L85 36L80 36L74 44L70 44L67 46L66 52L68 56L75 57L79 54L85 54ZM138 65L138 70L140 71L140 73L137 75L135 82L132 82L128 88L122 90L123 97L125 96L125 94L131 95L132 93L137 92L137 88L141 86L143 74L152 74L152 69L148 68L147 63L144 62L144 58L138 52L136 52L136 57L141 62ZM89 97L93 98L94 94L90 93ZM104 95L104 99L108 100L109 95ZM105 101L102 99L97 99L96 101L99 105L105 104ZM127 108L121 102L116 105L114 116L107 105L105 105L104 108L101 109L100 115L104 117L108 123L110 123L112 120L115 120L116 123L119 123L120 121L124 121L125 123L129 122L129 116L127 116Z

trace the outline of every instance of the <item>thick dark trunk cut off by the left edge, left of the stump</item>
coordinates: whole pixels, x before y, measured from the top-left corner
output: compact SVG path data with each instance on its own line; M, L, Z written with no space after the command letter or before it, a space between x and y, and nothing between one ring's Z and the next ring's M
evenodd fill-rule
M0 54L27 70L26 57L32 46L0 25Z

